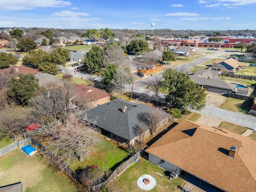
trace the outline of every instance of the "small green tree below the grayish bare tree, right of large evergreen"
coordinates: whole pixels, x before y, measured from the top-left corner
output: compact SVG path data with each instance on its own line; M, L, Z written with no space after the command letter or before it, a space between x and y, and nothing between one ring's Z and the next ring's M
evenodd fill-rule
M102 82L105 85L111 84L114 75L116 74L116 69L118 68L118 64L110 63L108 64L101 72L101 76L103 77Z

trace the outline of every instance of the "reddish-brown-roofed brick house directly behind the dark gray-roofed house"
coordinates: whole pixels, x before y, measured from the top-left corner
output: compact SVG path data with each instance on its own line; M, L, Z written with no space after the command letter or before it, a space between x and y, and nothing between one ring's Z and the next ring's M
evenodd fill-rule
M76 98L88 100L89 108L94 108L106 102L110 102L110 94L104 90L92 86L85 86L84 84L72 84L74 88L74 95Z

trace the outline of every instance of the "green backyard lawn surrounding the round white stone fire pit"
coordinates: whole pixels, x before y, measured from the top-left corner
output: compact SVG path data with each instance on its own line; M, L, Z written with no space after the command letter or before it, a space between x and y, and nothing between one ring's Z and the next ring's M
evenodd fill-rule
M160 173L163 176L156 173ZM165 173L164 169L141 159L140 162L132 164L114 181L110 182L103 191L144 192L138 187L137 180L141 175L149 174L156 179L156 186L150 192L178 192L178 186L182 186L184 180L180 177L170 180Z

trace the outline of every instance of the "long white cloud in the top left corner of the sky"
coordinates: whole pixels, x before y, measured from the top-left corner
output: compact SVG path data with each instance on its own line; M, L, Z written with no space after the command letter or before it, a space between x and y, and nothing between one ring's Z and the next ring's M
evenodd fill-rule
M71 5L62 0L1 0L1 10L30 10L38 7L64 7Z

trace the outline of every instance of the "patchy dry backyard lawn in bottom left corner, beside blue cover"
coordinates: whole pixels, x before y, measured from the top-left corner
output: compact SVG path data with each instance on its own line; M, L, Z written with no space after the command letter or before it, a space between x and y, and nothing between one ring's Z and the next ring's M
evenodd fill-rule
M63 173L50 167L36 154L28 157L16 149L0 157L0 186L23 183L23 192L77 192L76 186Z

